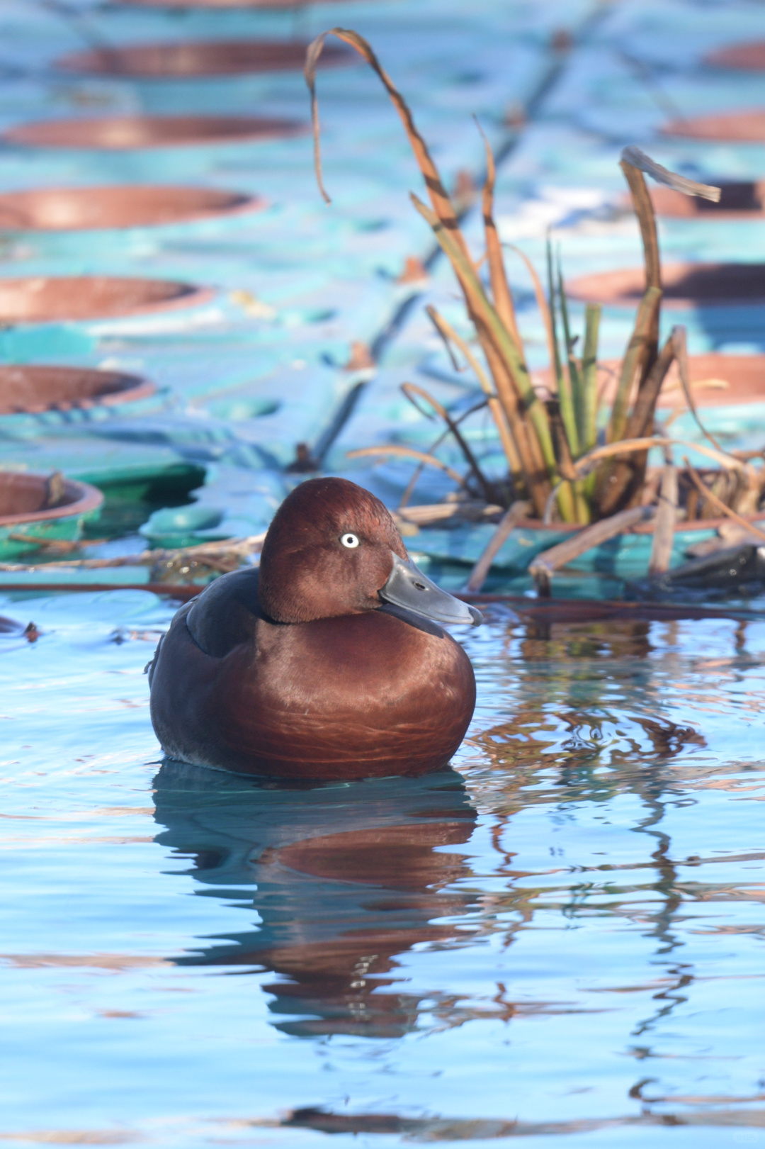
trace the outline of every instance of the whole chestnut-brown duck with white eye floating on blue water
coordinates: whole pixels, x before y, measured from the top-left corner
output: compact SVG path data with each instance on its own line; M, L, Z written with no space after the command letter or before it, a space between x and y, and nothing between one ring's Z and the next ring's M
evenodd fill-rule
M478 625L411 561L385 504L348 479L296 486L258 566L175 615L148 666L167 758L287 781L440 770L476 707L445 625Z

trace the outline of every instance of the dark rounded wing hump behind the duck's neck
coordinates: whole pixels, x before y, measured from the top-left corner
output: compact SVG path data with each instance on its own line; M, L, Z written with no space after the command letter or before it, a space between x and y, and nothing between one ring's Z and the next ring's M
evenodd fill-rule
M196 646L214 658L223 658L233 647L252 642L262 618L257 601L256 569L222 574L194 599L186 625Z

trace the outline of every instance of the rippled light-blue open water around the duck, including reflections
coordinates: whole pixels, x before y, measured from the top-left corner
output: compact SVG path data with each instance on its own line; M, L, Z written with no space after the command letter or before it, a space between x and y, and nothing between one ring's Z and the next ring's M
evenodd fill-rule
M160 763L171 612L0 603L3 1144L765 1143L764 622L492 607L453 769L285 788Z

